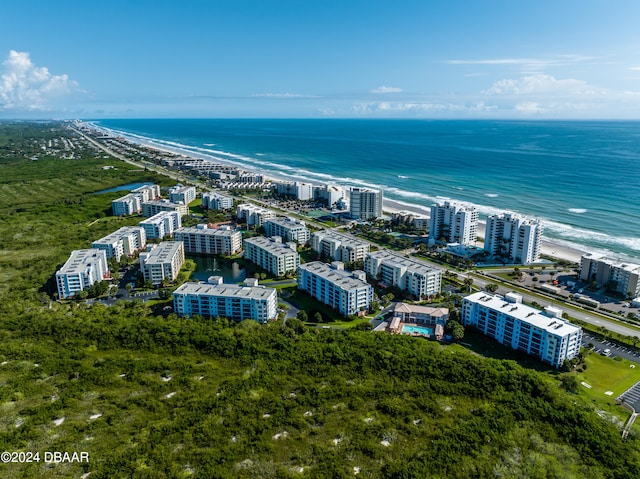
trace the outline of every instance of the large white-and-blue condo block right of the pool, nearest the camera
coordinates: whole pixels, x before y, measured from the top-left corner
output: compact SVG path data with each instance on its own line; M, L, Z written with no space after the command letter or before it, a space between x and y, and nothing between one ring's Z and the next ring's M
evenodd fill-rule
M498 342L559 368L580 352L582 329L562 319L562 310L522 304L522 296L478 292L462 301L462 323Z

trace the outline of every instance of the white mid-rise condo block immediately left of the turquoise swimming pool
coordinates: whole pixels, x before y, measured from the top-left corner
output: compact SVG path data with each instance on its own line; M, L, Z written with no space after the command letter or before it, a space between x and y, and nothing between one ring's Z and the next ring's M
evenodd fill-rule
M335 308L343 316L362 314L369 310L373 300L373 288L365 278L364 271L345 271L344 263L340 261L330 265L313 261L298 268L298 289Z

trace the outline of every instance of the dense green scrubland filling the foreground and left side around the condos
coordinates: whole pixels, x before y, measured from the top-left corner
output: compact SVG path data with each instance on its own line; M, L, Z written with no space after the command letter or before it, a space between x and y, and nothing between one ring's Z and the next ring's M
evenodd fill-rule
M640 477L637 433L622 440L591 397L565 392L577 374L595 390L595 362L541 373L359 326L50 301L70 250L137 220L107 219L117 193L94 193L159 179L88 150L30 160L45 135L67 133L0 125L0 446L90 461L3 464L2 477Z

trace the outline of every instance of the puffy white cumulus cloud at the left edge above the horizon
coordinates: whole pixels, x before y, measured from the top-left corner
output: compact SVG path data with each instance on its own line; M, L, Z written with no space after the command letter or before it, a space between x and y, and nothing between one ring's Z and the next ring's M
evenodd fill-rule
M27 52L11 50L0 72L0 110L46 110L52 101L78 90L67 75L34 65Z

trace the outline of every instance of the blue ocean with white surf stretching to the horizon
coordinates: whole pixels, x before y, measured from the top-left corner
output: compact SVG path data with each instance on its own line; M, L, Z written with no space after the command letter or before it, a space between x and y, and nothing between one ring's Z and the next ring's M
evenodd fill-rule
M100 120L131 139L428 208L540 218L545 236L640 257L640 122Z

